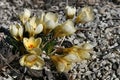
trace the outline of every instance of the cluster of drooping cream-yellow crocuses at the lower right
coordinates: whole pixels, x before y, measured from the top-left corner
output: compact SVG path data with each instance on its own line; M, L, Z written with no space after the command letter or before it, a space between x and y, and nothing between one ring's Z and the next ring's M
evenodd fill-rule
M90 59L93 46L84 43L81 46L73 46L61 49L62 55L52 55L51 59L59 72L68 72L74 64L85 59Z

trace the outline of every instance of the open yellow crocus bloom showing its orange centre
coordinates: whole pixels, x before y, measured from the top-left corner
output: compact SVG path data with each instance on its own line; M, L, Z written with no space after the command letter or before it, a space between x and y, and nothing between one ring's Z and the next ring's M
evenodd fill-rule
M41 38L36 39L34 37L23 38L23 44L28 51L34 48L39 48L41 42L42 42Z

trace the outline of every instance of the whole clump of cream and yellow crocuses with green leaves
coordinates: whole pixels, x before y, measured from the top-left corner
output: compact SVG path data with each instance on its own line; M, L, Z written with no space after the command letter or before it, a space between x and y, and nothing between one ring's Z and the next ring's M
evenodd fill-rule
M19 14L21 23L10 26L11 35L22 44L25 50L20 51L23 54L19 61L21 66L41 70L45 66L45 60L41 55L46 54L59 72L68 72L76 62L90 59L93 46L89 43L61 48L60 51L55 46L58 39L70 36L77 31L75 23L86 23L94 19L91 7L85 6L76 16L76 8L66 6L66 21L63 23L59 22L57 13L43 11L37 16L31 16L31 14L30 10L24 9Z

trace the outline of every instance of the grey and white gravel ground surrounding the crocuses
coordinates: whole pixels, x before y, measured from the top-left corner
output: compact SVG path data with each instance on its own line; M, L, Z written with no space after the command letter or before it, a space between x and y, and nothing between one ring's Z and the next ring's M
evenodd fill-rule
M65 2L60 2L58 6L56 6L58 3L51 6L47 0L45 1L46 3L42 0L0 0L0 41L2 41L2 37L6 36L3 28L8 29L11 23L16 22L18 20L16 14L21 12L23 8L27 7L39 13L42 9L59 11L65 5ZM53 78L54 75L47 74L46 77L50 76L50 78L43 80L120 80L120 5L112 2L94 3L94 5L93 3L95 20L76 26L77 28L87 29L87 31L80 31L66 39L73 44L79 45L88 41L95 45L94 51L91 53L92 59L76 64L67 75L60 74L63 79L59 77L56 79ZM73 5L74 2L70 4ZM79 6L77 4L78 9L81 6L83 5ZM59 11L59 13L62 15L62 11ZM11 46L8 45L8 47ZM1 48L0 52L2 52ZM47 71L47 68L45 70ZM9 74L9 70L2 68L1 71L0 80L13 80L13 78L16 78L16 76ZM48 72L50 71L48 70ZM69 79L67 76L69 76ZM32 78L27 75L25 80L32 80Z

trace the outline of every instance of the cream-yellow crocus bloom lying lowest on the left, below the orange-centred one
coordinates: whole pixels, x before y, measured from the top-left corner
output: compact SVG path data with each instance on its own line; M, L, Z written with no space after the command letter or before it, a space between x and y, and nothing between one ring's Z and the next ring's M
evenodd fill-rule
M20 65L30 69L41 70L44 64L43 59L34 54L26 54L20 59Z

